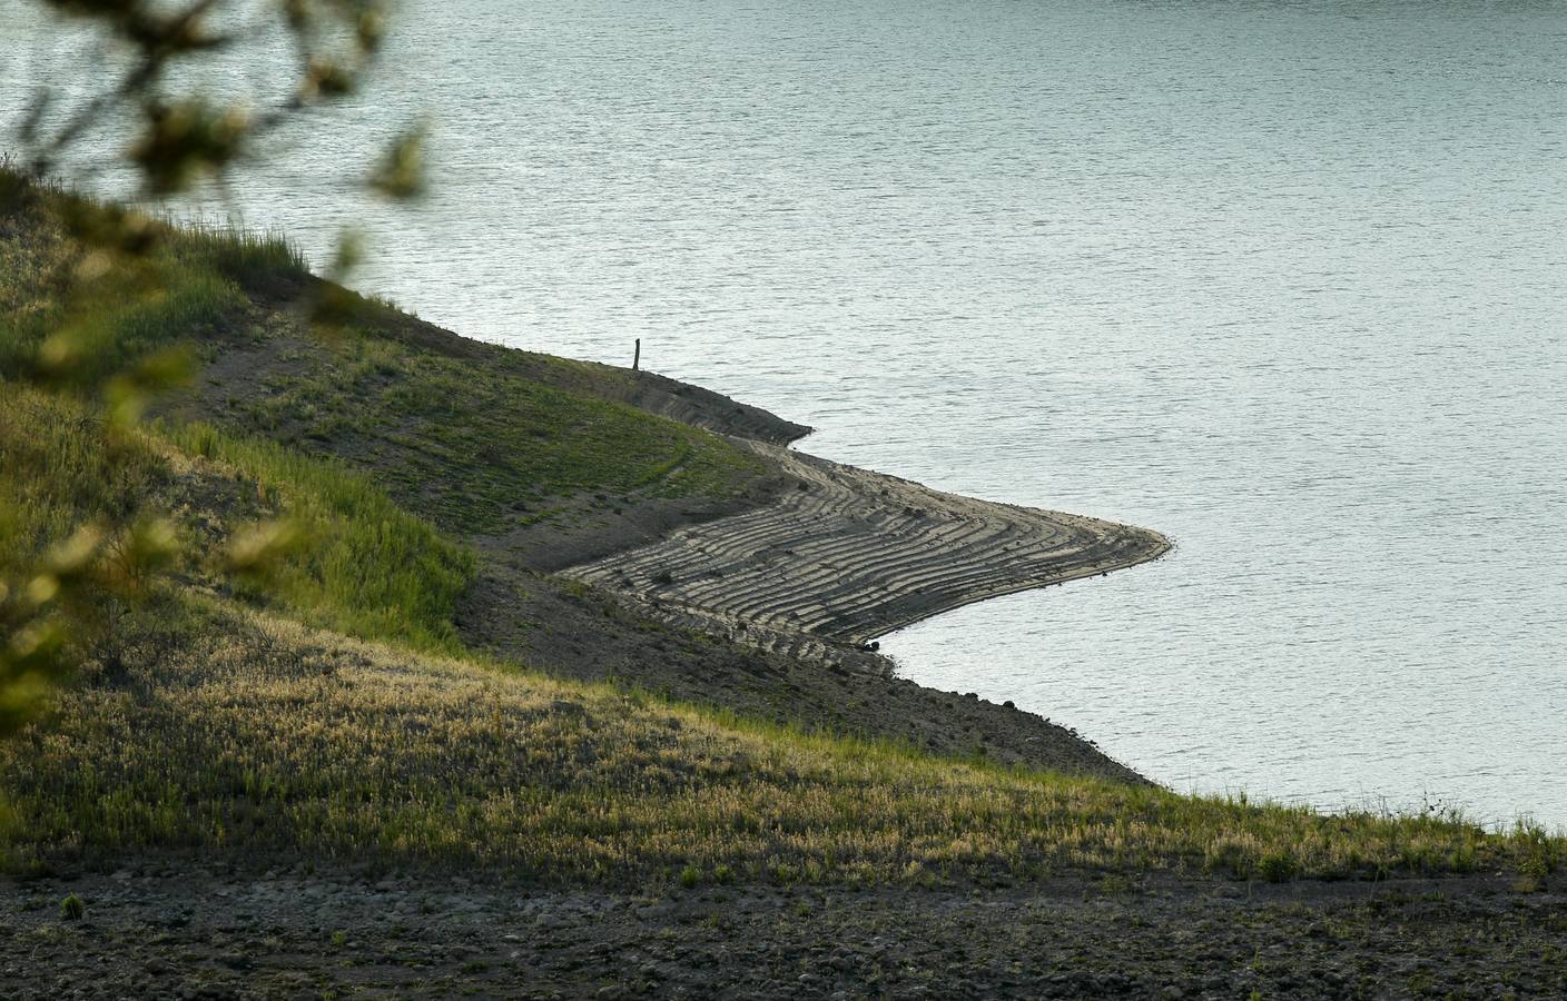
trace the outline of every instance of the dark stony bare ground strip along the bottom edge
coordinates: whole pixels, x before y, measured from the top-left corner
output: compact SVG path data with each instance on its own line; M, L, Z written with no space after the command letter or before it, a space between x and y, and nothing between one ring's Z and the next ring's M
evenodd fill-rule
M1567 996L1567 894L1493 877L605 893L155 860L0 912L5 998Z

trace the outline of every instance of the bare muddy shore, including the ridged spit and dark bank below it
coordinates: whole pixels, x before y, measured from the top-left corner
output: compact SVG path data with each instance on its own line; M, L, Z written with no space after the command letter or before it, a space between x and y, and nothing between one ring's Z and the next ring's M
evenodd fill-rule
M639 382L663 399L710 403L704 426L776 475L727 511L650 501L613 523L581 517L475 539L480 580L458 617L469 644L559 677L809 730L1145 782L1048 717L893 677L867 641L970 602L1153 559L1169 548L1163 536L799 454L777 443L799 425L647 373ZM746 437L758 428L771 440Z

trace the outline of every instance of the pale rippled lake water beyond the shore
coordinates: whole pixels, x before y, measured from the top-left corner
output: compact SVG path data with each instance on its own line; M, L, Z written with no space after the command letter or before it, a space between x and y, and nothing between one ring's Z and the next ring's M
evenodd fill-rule
M356 284L462 334L641 337L816 454L1177 540L888 638L910 678L1177 790L1567 822L1567 8L406 8L232 210L357 221ZM14 116L78 41L0 16ZM418 111L417 208L321 182Z

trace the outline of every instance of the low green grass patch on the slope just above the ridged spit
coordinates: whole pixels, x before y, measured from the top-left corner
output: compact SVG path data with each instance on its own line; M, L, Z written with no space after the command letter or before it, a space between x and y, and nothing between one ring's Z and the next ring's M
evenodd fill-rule
M722 501L766 473L711 432L548 385L530 356L404 338L406 320L381 304L360 301L317 343L287 315L268 323L235 356L260 374L212 420L370 467L453 531L503 534L647 498Z

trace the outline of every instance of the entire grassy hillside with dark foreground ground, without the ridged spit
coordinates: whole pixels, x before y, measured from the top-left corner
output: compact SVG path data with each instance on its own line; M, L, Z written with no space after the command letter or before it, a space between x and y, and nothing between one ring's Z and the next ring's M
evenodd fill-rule
M1451 978L1567 985L1558 837L1182 796L1037 716L898 681L851 642L794 656L558 573L779 508L801 473L769 450L802 428L465 341L312 279L280 240L165 230L150 263L110 262L100 295L64 312L85 262L72 218L91 205L8 199L0 569L150 512L185 545L150 600L102 609L111 627L55 713L0 746L0 993L66 990L86 962L113 970L94 974L108 996L176 976L406 990L400 952L480 993L1145 993L1203 965L1233 993L1302 976L1224 915L1260 921L1269 948L1280 929L1332 940L1352 968L1313 981L1321 996L1376 995L1379 957L1476 921L1490 938L1448 956ZM144 295L143 266L163 291ZM190 343L194 378L139 431L107 434L113 398L33 385L58 331L81 367ZM282 515L302 544L265 573L219 558ZM1254 910L1254 882L1276 887L1257 907L1282 910ZM346 887L335 912L290 905L323 885ZM67 893L88 921L61 920ZM1008 959L1025 943L997 923L1036 896L1059 909L1031 918L1059 941ZM563 931L599 912L619 916ZM838 962L788 920L807 913L835 929ZM1130 951L1105 920L1131 929ZM730 967L715 949L736 927L752 938Z

